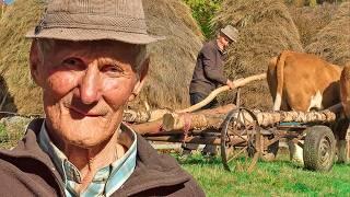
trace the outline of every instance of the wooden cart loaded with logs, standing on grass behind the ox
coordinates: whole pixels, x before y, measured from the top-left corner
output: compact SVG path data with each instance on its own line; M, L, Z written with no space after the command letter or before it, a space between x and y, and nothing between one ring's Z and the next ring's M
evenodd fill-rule
M349 124L334 112L256 112L240 107L238 103L236 105L224 116L217 116L217 120L211 121L212 127L198 129L198 126L182 123L174 129L143 136L151 141L219 146L223 166L228 171L229 162L241 154L253 158L249 169L258 159L273 160L283 138L303 148L304 166L308 170L329 171L336 154L338 161L349 162ZM264 117L267 114L279 119L272 117L267 120Z

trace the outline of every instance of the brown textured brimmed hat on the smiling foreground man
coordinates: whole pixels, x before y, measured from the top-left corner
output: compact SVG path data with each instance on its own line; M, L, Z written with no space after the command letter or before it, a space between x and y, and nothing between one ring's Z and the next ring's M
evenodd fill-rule
M140 45L164 39L148 34L141 0L50 0L26 37Z

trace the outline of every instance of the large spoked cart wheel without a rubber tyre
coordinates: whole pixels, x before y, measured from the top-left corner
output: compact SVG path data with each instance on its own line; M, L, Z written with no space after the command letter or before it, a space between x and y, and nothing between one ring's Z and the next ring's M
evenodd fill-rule
M257 149L256 138L260 137L260 130L257 126L257 118L253 112L246 108L237 108L231 111L221 126L221 159L223 167L231 171L229 162L247 150L254 150L257 154L260 152ZM259 144L259 143L258 143ZM238 152L233 149L241 147ZM252 162L252 164L254 161ZM250 166L253 166L250 164ZM249 169L250 169L249 166Z

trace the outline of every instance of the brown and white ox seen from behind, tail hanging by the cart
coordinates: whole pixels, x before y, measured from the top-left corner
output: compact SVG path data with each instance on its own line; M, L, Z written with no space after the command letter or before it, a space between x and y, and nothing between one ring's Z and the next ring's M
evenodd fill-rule
M340 102L341 68L317 56L284 50L270 60L267 82L273 111L323 109ZM303 162L302 149L288 142L291 159Z

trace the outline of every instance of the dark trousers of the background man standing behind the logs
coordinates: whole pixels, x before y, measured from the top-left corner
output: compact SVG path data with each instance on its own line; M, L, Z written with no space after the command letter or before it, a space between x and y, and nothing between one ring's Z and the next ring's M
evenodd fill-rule
M203 94L203 93L190 93L189 97L190 97L190 105L195 105L201 101L203 101L208 95ZM208 109L208 108L214 108L219 106L219 102L217 99L212 100L210 103L208 103L206 106L201 107L200 109ZM209 136L206 136L209 138ZM183 148L183 154L189 154L191 152L191 150L196 150L198 149L198 144L196 143L184 143L182 146ZM217 154L217 146L210 146L207 144L202 151L203 154L211 154L214 155Z

